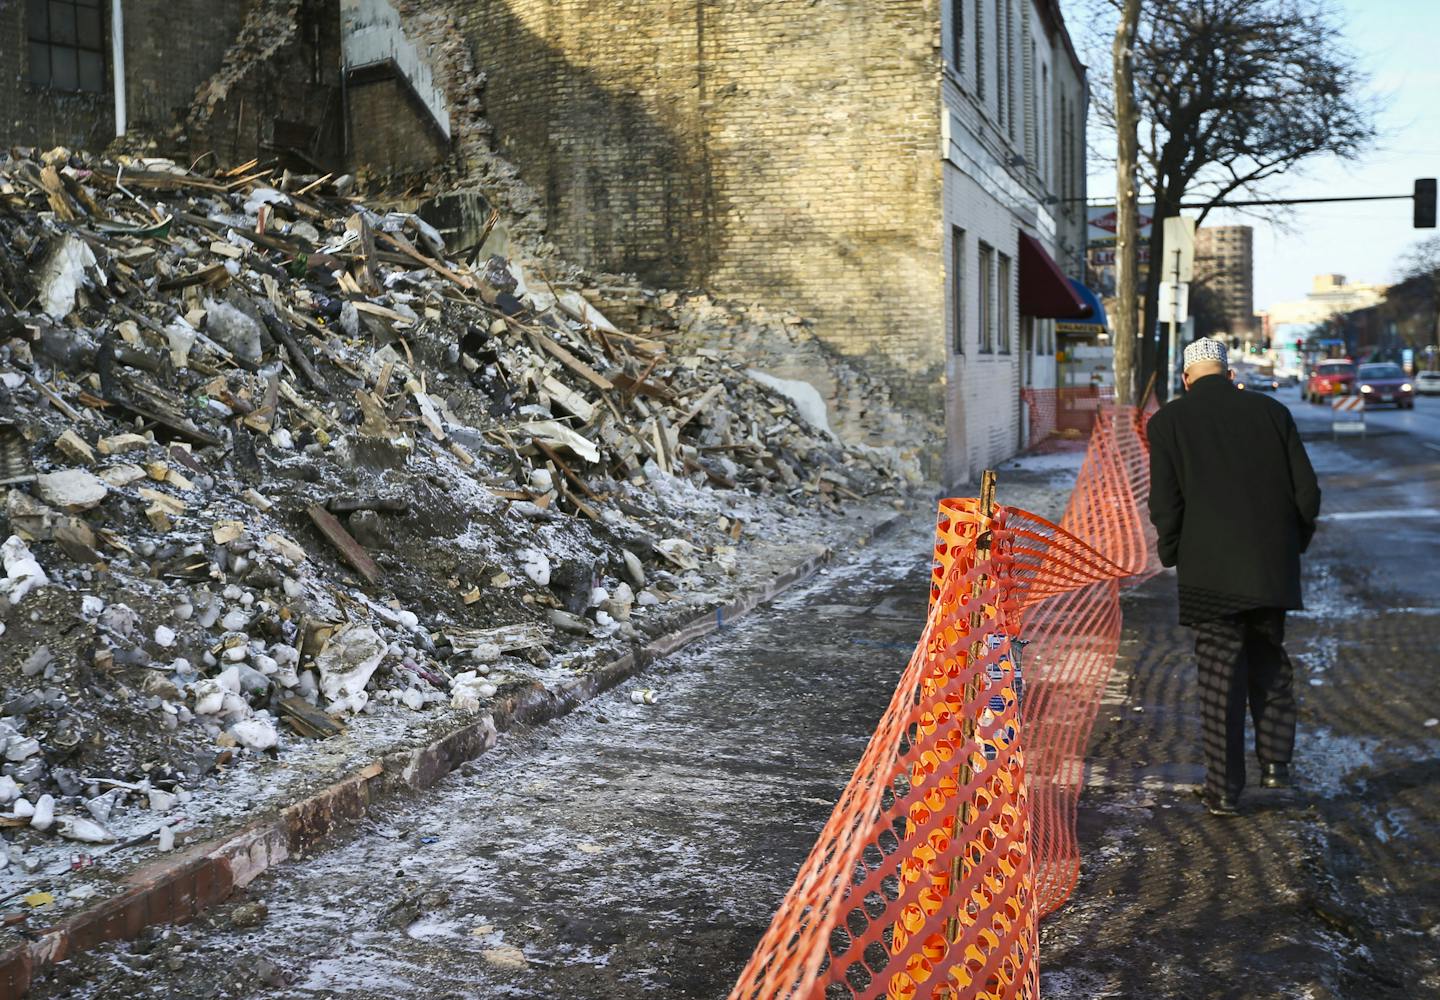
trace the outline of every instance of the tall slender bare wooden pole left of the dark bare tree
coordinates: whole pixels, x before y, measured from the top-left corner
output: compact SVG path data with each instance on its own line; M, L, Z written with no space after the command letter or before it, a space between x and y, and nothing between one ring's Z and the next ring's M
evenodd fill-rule
M1135 190L1139 150L1139 110L1135 105L1135 42L1140 30L1140 0L1125 0L1115 29L1115 402L1135 402L1135 344L1139 326L1140 207Z

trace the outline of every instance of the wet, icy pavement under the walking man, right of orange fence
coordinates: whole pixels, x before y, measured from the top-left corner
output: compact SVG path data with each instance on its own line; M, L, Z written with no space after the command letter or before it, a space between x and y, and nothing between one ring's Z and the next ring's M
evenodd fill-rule
M1308 435L1309 437L1309 435ZM1309 444L1325 490L1290 615L1299 790L1202 811L1192 634L1175 578L1125 597L1080 803L1081 876L1043 925L1047 1000L1440 994L1440 467Z

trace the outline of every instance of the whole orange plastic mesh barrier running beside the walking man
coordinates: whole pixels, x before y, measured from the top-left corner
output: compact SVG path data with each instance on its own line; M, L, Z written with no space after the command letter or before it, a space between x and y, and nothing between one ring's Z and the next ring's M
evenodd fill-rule
M940 501L920 641L732 1000L1038 996L1119 585L1153 565L1142 418L1097 412L1061 524Z

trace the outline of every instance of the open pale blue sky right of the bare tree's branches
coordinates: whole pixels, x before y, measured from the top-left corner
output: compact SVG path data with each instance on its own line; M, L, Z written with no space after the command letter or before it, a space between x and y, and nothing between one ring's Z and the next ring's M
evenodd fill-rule
M1335 6L1369 75L1381 135L1358 160L1316 160L1267 190L1284 197L1407 195L1416 177L1440 177L1440 0L1335 0ZM1097 164L1089 183L1090 195L1102 197L1113 189L1115 174ZM1299 205L1283 228L1233 212L1212 212L1205 222L1256 228L1254 304L1260 311L1303 298L1316 274L1395 281L1405 248L1440 232L1413 229L1410 212L1410 202Z

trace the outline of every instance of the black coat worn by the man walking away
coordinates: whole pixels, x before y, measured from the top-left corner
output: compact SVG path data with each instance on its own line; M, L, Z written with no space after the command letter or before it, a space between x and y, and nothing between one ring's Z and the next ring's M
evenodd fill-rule
M1151 520L1178 566L1181 621L1300 608L1320 487L1290 411L1224 375L1151 418Z

